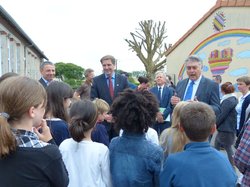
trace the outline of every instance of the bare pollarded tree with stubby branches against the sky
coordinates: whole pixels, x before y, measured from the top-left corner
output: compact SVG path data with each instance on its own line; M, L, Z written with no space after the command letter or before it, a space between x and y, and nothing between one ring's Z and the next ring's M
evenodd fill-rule
M142 61L147 77L152 82L154 74L163 69L166 64L166 36L165 21L154 23L152 20L140 21L139 29L130 33L132 39L125 39L129 47L136 52Z

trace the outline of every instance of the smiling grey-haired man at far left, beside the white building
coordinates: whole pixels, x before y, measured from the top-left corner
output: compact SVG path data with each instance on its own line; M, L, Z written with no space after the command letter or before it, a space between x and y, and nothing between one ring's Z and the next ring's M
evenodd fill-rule
M42 77L39 79L39 82L46 88L55 77L55 65L50 61L42 62L40 65L40 73Z

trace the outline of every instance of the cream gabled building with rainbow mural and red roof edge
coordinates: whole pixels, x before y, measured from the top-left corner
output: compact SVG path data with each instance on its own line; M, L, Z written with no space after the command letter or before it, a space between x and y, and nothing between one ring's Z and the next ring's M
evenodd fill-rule
M175 83L186 78L189 55L203 60L203 74L236 82L250 71L250 0L217 0L194 26L167 50L167 73Z

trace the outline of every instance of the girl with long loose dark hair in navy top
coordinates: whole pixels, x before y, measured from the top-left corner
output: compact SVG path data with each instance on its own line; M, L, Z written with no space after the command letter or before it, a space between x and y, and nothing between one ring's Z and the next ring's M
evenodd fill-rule
M59 146L63 140L70 138L68 109L73 97L73 89L67 83L53 81L46 87L46 91L48 101L45 118Z

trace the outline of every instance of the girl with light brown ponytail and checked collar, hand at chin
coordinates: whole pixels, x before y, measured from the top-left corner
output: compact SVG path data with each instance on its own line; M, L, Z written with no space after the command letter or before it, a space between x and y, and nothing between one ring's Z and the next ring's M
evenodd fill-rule
M66 187L62 155L43 120L47 95L23 76L0 83L0 186Z

